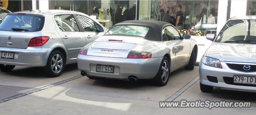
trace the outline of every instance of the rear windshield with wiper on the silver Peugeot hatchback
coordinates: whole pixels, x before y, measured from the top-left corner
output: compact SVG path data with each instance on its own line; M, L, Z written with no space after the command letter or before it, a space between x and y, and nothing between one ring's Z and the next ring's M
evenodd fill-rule
M38 32L44 26L44 16L11 14L0 24L0 31Z

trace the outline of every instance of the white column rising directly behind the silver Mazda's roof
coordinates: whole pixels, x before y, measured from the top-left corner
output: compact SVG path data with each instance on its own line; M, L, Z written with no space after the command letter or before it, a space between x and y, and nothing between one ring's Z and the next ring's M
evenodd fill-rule
M247 0L231 0L230 18L246 16Z

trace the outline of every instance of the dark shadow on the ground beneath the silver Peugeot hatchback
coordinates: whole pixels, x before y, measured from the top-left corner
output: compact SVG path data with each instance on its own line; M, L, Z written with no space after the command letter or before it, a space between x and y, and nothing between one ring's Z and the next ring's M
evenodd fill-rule
M62 74L68 73L78 69L77 63L65 65L64 72ZM20 76L20 77L33 77L33 78L49 78L44 72L44 67L21 67L17 66L12 71L6 73L8 75Z

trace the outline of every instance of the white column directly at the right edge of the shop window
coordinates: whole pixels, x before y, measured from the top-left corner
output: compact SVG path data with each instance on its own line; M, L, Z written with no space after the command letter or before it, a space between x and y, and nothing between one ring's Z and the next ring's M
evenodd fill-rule
M228 0L219 0L217 34L220 32L227 20Z

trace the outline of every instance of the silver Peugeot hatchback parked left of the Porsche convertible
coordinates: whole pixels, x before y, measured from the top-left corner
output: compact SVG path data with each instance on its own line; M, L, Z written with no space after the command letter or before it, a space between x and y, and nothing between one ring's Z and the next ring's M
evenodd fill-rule
M107 31L88 15L67 10L30 10L8 14L0 24L0 70L15 65L44 67L58 77L65 64Z

